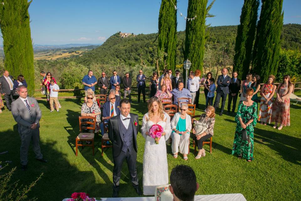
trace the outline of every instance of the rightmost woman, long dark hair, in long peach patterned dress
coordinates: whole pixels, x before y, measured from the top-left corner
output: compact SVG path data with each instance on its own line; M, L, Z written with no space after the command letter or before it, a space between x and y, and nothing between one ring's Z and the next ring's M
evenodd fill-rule
M281 130L283 126L290 125L289 95L293 92L293 88L289 75L284 75L283 82L278 85L277 99L272 108L271 122L275 122L273 128L278 126L278 122L280 123L278 130Z

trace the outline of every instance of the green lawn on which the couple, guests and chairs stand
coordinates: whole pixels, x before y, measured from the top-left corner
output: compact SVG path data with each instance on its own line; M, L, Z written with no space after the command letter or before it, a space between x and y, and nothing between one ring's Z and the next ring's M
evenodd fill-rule
M61 95L61 94L60 94ZM297 95L301 95L298 93ZM204 107L204 95L201 94L201 108ZM133 99L135 100L135 96ZM87 192L94 197L111 197L112 195L112 149L105 150L101 156L100 138L96 138L96 152L92 149L79 149L75 156L75 138L79 133L78 116L82 102L75 99L61 99L59 113L49 113L45 100L39 100L42 110L40 121L40 146L48 163L35 160L32 149L29 150L28 170L21 171L19 161L20 138L17 124L6 109L0 114L0 161L13 161L3 170L17 166L13 181L28 185L42 172L44 176L29 193L29 197L38 200L62 200L73 192ZM227 104L227 102L226 102ZM167 147L169 172L178 164L191 166L200 184L196 194L242 193L247 200L301 200L301 128L299 118L301 105L291 105L291 126L281 131L272 125L257 124L254 133L255 160L247 162L231 155L235 132L234 116L216 116L212 154L194 159L190 147L188 160L182 155L174 159L171 146ZM147 111L146 103L132 104L132 112L139 114L140 126L142 115ZM203 113L200 110L196 114ZM142 162L145 140L138 135L137 171L142 188ZM204 148L209 150L209 146ZM3 165L3 163L2 163ZM160 164L158 164L160 170ZM121 197L136 197L131 186L129 171L124 163L121 174Z

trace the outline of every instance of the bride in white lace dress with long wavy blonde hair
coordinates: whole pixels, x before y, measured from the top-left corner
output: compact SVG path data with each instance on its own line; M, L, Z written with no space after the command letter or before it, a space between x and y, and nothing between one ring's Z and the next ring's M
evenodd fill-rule
M159 124L163 127L163 136L155 139L149 136L150 127ZM170 117L163 111L161 101L153 96L148 102L148 113L143 116L141 133L145 138L143 155L143 194L154 195L155 187L168 184L168 166L165 141L172 132Z

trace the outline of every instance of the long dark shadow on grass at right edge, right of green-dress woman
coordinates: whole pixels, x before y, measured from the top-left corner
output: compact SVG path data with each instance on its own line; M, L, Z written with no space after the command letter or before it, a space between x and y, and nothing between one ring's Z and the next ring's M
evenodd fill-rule
M301 165L301 139L260 128L254 128L254 138L254 142L267 145L277 151L284 160Z

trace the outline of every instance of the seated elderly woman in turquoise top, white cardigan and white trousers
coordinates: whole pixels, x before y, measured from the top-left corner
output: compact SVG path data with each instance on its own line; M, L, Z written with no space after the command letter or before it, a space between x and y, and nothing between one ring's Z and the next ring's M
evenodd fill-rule
M174 158L178 157L179 146L180 153L183 154L183 159L187 160L189 149L189 137L192 127L191 117L186 114L188 110L187 104L182 104L181 112L177 112L172 118L172 154Z

